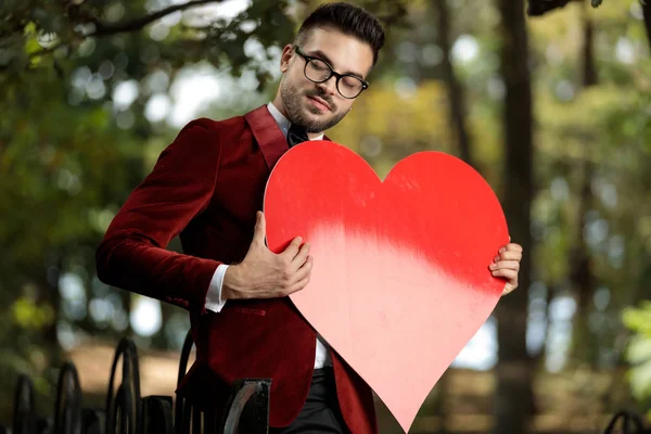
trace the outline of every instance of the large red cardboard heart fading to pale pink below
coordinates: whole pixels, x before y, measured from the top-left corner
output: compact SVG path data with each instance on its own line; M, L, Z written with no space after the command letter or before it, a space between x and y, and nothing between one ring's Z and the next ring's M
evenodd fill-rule
M509 242L495 193L444 153L410 155L382 182L347 148L311 141L279 159L264 212L272 252L311 245L292 301L408 432L505 286L488 270Z

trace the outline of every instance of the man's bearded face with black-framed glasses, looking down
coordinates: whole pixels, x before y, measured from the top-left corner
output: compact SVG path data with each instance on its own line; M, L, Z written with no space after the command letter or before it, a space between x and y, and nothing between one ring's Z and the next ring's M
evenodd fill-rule
M339 74L352 74L366 79L373 64L371 47L331 28L314 28L299 47L305 55L327 62ZM346 99L336 89L336 77L316 84L305 76L306 60L293 46L284 48L280 97L288 118L303 125L308 132L321 132L336 125L350 111L354 99ZM340 88L344 90L344 79Z

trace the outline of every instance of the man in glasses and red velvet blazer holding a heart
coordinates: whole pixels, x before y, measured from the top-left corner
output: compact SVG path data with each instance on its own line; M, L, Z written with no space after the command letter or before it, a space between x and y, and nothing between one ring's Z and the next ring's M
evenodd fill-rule
M102 281L190 311L197 359L177 392L195 406L219 412L234 380L271 378L272 432L376 432L370 388L288 297L309 281L309 244L271 253L259 209L278 158L346 115L383 44L366 11L318 8L282 52L272 103L187 125L99 246ZM177 234L184 254L165 250ZM490 266L505 292L518 285L520 258L509 244Z

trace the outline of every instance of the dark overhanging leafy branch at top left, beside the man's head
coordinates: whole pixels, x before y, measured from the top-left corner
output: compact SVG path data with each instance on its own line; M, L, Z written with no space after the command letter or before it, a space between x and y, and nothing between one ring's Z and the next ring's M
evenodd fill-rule
M93 51L93 47L101 48L100 58L111 59L131 44L142 50L142 55L141 62L128 69L130 75L161 64L177 68L206 61L215 66L230 65L233 74L252 67L264 85L269 74L263 63L271 52L263 51L259 59L247 52L247 48L254 41L265 50L278 46L291 39L294 28L284 12L286 1L252 2L232 20L219 17L214 10L199 8L224 3L220 0L193 0L164 7L165 3L4 2L2 15L9 20L3 20L0 31L0 43L4 47L0 67L13 74L39 66L61 71L67 60L84 56ZM190 11L181 18L184 10Z

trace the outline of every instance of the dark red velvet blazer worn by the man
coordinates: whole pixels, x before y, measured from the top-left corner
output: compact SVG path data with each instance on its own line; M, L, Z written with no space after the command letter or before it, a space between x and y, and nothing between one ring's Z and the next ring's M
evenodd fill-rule
M190 311L196 361L177 391L218 414L232 381L271 378L270 425L285 426L307 397L316 332L288 297L229 301L205 309L219 264L244 258L267 179L288 151L266 106L227 120L188 124L136 188L98 247L101 281ZM165 250L179 235L184 254ZM344 420L376 432L367 384L333 354Z

